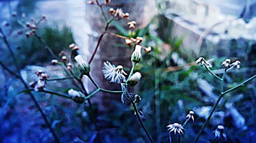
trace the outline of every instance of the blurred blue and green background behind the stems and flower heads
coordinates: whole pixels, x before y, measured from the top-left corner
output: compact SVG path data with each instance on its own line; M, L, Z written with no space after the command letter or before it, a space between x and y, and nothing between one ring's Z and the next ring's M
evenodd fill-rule
M77 44L79 53L89 60L104 31L100 9L86 0L20 0L0 1L0 27L17 58L26 83L42 70L51 78L63 77L61 66L51 65L53 57L35 37L27 37L20 21L39 21L37 34L59 55ZM100 1L101 3L104 1ZM213 72L221 75L221 62L239 60L241 68L226 75L224 90L234 87L255 74L256 1L255 0L112 0L103 7L108 18L110 8L122 8L137 22L135 34L143 37L141 45L152 47L142 53L135 71L142 74L130 90L139 94L137 104L143 122L155 142L170 142L166 126L183 124L190 110L195 122L187 123L181 142L192 142L219 95L220 82L205 68L195 65L203 56L214 59ZM111 23L112 33L129 36L128 21ZM0 35L0 60L15 71L11 53ZM91 64L92 77L105 89L120 90L119 84L103 78L102 65L110 61L123 65L129 73L134 47L124 40L104 36ZM3 67L0 68L0 142L55 142L38 108L28 94L18 94L24 84ZM89 92L95 90L88 79ZM212 133L218 125L225 127L227 140L222 142L255 142L255 79L225 95L198 142L215 142ZM66 93L75 89L69 80L49 81L47 90ZM132 106L121 103L120 94L97 93L88 103L77 104L58 96L33 92L60 142L148 142L134 115ZM98 131L92 122L96 116ZM173 139L175 142L175 139ZM219 141L221 142L221 141Z

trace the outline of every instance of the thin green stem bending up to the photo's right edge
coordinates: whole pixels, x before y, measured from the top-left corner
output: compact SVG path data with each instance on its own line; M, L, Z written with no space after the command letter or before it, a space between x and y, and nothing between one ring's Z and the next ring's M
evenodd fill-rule
M255 78L255 77L256 77L256 74L253 75L252 77L248 78L247 80L241 82L241 83L238 84L236 87L233 87L233 88L231 88L231 89L229 89L229 90L227 90L227 91L225 91L225 92L222 92L222 93L219 95L219 97L218 97L216 103L214 104L214 106L212 107L212 109L211 109L211 111L210 111L210 114L209 114L208 118L207 118L206 121L204 122L202 128L200 129L199 133L197 134L197 137L196 137L195 140L193 141L194 143L197 142L197 140L199 139L201 133L203 132L204 128L206 127L206 124L209 122L209 120L210 120L212 114L214 113L216 107L218 106L218 104L219 104L221 98L222 98L225 94L227 94L227 93L229 93L229 92L231 92L231 91L233 91L233 90L235 90L235 89L241 87L242 85L244 85L245 83L251 81L251 80L252 80L253 78Z

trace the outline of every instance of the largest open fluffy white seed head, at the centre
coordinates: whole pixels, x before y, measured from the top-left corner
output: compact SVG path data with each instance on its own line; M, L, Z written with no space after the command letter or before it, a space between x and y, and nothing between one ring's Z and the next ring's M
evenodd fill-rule
M124 75L127 74L123 71L123 66L119 65L116 67L109 61L104 62L102 72L104 77L110 80L110 82L121 83L126 80Z

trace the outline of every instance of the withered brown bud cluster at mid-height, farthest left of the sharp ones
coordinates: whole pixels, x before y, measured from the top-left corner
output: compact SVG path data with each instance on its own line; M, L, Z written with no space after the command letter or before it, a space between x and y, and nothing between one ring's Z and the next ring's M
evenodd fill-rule
M36 73L36 81L30 82L29 85L34 91L43 91L46 87L46 81L49 78L49 75L42 72L41 70L35 72Z

